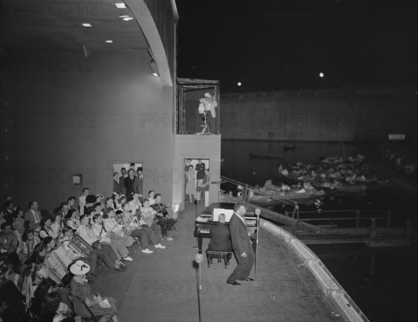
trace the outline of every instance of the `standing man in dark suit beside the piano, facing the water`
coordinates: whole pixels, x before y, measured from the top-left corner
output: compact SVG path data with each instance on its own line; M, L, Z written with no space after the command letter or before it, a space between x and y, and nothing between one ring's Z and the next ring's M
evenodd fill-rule
M247 224L245 223L245 205L237 203L233 207L234 213L229 220L229 231L231 233L232 249L238 261L238 265L233 273L228 277L226 283L232 285L241 285L240 281L252 282L254 279L249 278L251 268L256 260L256 254L252 249L252 243L247 232Z

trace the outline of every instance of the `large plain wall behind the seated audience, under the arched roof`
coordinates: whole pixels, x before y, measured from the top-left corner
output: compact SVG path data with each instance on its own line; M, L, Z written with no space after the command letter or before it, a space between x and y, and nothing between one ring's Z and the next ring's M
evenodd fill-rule
M162 86L147 52L6 51L1 66L1 185L17 205L52 210L82 187L112 192L113 162L143 162L144 191L171 203L158 176L173 167L173 89ZM7 160L6 160L7 158ZM160 171L160 172L159 172ZM73 187L72 174L82 174Z

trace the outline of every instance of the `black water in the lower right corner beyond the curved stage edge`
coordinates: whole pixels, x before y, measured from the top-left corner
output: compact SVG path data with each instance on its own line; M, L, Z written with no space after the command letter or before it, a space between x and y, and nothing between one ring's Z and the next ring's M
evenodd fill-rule
M417 321L417 247L309 245L370 321Z

